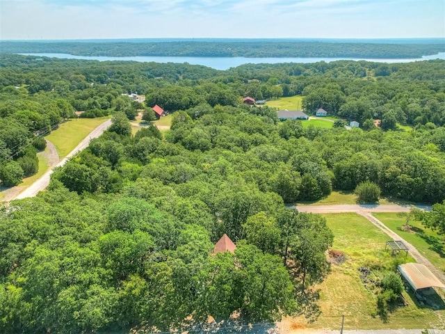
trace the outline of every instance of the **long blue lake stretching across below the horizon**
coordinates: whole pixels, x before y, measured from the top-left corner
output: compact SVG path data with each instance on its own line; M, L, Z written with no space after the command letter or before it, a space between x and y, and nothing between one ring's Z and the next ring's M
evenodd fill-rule
M427 61L431 59L445 59L445 52L422 58L405 59L373 59L373 58L245 58L245 57L167 57L167 56L134 56L134 57L106 57L106 56L73 56L72 54L22 54L24 56L40 56L65 59L88 59L92 61L138 61L155 63L189 63L204 65L216 70L228 70L244 64L276 64L276 63L317 63L318 61L374 61L377 63L410 63L412 61Z

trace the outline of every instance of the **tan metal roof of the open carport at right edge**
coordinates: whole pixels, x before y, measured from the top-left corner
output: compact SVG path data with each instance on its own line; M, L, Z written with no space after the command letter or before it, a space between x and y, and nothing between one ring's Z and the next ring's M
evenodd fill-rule
M439 278L437 278L434 273L423 264L405 263L400 264L397 268L414 291L426 287L439 287L445 289L444 283L442 283Z

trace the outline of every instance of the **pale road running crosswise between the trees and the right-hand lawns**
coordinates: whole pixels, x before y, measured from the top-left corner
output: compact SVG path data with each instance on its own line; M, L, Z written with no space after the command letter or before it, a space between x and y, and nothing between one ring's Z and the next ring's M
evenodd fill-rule
M429 211L429 205L415 205L419 209ZM313 214L339 214L346 212L410 212L412 205L396 204L339 204L339 205L294 205L299 212L312 212Z

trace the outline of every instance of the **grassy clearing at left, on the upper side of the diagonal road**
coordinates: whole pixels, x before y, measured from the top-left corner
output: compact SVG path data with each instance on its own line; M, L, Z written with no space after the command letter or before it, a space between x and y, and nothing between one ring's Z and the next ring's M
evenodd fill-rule
M74 150L95 127L101 125L106 120L108 120L108 117L68 120L46 136L46 138L56 146L57 153L61 159Z

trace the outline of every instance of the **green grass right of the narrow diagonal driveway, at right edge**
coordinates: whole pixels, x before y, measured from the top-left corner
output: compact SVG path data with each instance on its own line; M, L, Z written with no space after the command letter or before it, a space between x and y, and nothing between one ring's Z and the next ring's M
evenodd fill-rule
M445 238L443 236L440 236L430 228L423 227L419 221L410 222L410 225L413 227L412 232L406 232L401 229L401 226L405 224L405 220L399 218L397 214L378 213L373 214L373 216L412 244L437 269L445 271Z

